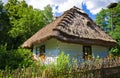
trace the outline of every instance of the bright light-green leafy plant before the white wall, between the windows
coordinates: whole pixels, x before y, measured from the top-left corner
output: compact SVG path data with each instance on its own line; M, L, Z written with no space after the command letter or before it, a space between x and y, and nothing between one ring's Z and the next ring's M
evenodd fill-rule
M67 73L70 70L71 64L70 64L70 57L68 54L65 55L64 52L61 52L60 55L58 55L58 58L53 63L49 64L51 74L56 74L54 72L57 72L57 74L60 73Z

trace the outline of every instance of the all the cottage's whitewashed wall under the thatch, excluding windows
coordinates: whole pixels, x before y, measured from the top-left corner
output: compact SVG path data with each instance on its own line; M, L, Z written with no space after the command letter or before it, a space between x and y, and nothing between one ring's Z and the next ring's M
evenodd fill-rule
M73 44L73 43L64 43L58 41L57 39L50 39L45 43L46 48L46 57L48 58L57 58L57 56L61 52L65 52L65 54L69 54L70 57L74 57L77 59L82 59L83 54L83 45L81 44ZM41 44L41 45L43 45ZM40 45L34 46L33 52L35 53L35 47L39 47ZM97 56L106 57L108 55L108 48L103 46L92 45L92 55L96 58Z

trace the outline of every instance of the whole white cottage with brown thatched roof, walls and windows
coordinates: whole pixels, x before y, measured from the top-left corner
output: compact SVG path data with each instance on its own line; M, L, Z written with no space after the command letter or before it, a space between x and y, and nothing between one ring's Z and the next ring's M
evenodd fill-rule
M81 9L73 7L43 27L22 47L33 48L34 54L57 57L61 51L74 57L106 57L113 40Z

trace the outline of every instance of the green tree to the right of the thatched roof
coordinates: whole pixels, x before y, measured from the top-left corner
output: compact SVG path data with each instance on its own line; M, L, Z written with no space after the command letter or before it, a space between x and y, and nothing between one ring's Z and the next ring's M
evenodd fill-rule
M113 29L115 29L118 21L120 20L120 2L118 3L117 7L111 9L102 9L100 13L96 16L96 23L99 24L106 32L111 31L111 24L113 25ZM111 23L112 19L112 23Z

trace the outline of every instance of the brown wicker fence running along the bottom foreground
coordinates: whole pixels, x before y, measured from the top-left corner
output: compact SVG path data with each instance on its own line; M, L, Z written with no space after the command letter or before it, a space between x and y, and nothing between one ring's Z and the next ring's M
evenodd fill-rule
M78 63L61 72L51 71L49 68L42 71L40 67L1 70L0 78L120 78L120 58Z

